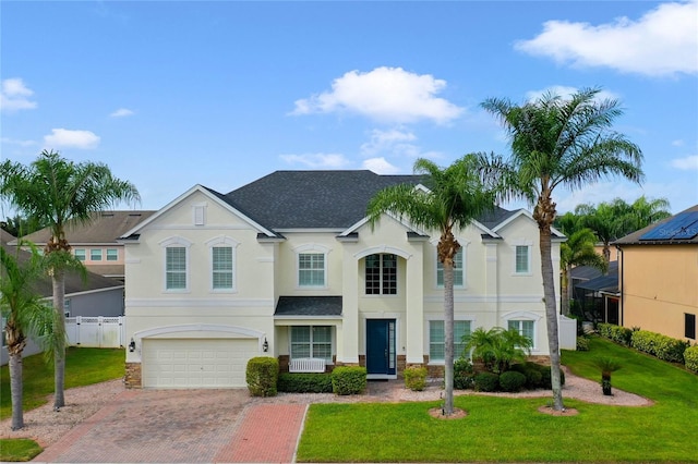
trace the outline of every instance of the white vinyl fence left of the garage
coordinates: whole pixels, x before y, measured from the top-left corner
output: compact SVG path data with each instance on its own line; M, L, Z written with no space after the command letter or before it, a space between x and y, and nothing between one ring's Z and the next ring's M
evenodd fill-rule
M65 318L65 332L71 346L123 347L123 316L76 316Z

